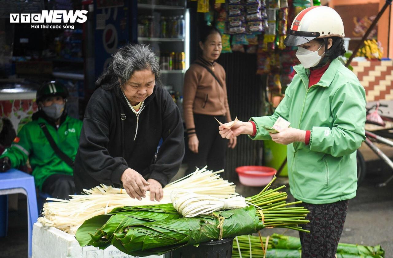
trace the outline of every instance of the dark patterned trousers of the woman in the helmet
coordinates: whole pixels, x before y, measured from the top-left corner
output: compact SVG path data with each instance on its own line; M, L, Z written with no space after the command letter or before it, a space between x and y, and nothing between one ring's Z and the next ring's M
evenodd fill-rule
M310 221L301 225L309 233L299 232L301 257L334 258L341 233L347 217L348 200L329 204L300 203L310 213L306 219Z

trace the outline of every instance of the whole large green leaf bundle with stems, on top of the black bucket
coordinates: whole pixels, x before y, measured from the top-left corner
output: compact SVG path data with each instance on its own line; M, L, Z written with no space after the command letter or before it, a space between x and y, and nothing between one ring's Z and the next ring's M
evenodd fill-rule
M283 187L269 189L246 198L250 206L212 212L196 217L182 217L171 204L127 206L86 220L76 232L81 246L105 249L114 245L133 256L160 255L184 245L198 245L211 240L253 234L264 227L302 230L307 209L286 207ZM263 210L261 210L263 208ZM302 230L308 232L306 230Z

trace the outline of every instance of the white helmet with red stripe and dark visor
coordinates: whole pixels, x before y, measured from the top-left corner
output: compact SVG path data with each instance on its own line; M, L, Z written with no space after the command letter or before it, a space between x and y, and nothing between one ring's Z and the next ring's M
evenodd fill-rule
M344 36L343 21L334 9L327 6L312 6L296 15L284 44L299 46L315 38Z

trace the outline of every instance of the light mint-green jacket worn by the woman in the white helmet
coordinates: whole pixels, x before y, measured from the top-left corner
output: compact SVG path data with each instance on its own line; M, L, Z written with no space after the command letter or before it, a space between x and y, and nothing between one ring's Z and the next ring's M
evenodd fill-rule
M255 140L271 140L260 125L272 126L279 116L293 128L311 130L310 144L288 144L290 192L312 204L334 203L356 195L356 149L365 140L365 90L358 78L336 58L316 84L310 70L297 74L272 116L251 118Z

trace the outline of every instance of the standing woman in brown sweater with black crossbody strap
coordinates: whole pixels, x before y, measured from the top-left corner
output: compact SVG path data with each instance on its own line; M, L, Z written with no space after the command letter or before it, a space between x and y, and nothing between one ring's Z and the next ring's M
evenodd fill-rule
M226 92L225 70L215 62L222 50L220 32L210 26L201 30L202 56L187 70L184 77L184 118L188 135L188 157L186 174L195 167L208 165L209 170L224 168L227 140L217 129L216 117L220 122L232 121ZM231 138L228 147L236 146Z

